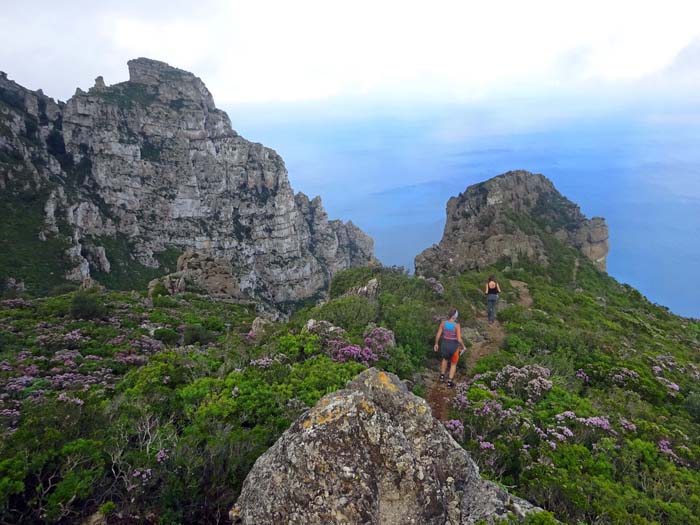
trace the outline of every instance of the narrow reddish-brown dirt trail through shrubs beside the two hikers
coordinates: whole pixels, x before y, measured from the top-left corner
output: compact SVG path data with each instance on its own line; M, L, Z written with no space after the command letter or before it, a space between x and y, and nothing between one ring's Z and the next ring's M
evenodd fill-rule
M532 308L532 296L527 283L523 281L511 280L510 284L518 290L518 304L525 308ZM476 363L487 355L497 352L503 341L506 338L506 331L500 322L489 323L486 319L485 312L479 311L476 316L476 332L480 336L478 341L473 341L471 348L467 349L466 354L462 359L467 360L466 374L457 369L455 374L455 383L464 381L471 374ZM426 400L433 411L433 417L440 421L446 421L449 413L450 400L455 395L454 388L448 388L447 383L441 383L439 380L439 370L426 370L423 374L423 380L426 385Z

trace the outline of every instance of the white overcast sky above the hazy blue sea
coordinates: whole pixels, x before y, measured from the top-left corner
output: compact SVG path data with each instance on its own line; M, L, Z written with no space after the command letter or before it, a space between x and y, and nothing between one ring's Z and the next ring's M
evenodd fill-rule
M219 106L462 103L697 91L700 2L2 1L0 69L67 99L126 61L200 76Z

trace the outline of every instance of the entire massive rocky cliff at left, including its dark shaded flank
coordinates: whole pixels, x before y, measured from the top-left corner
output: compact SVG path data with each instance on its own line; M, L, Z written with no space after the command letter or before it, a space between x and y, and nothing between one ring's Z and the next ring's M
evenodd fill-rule
M65 104L0 76L2 211L37 248L2 246L4 281L44 282L25 267L45 243L52 281L122 287L196 251L229 261L241 295L280 304L372 259L372 240L295 195L282 158L239 136L199 78L145 58L129 76Z

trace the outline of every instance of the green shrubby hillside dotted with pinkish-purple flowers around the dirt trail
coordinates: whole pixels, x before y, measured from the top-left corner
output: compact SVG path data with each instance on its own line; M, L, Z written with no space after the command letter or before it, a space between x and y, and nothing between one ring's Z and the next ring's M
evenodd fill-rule
M447 422L482 474L565 523L700 523L700 323L540 235L546 268L443 275L442 294L352 269L325 304L255 333L244 307L191 294L3 302L3 521L225 523L255 459L366 366L424 395L439 316L457 307L476 340L494 271L506 338L459 370Z

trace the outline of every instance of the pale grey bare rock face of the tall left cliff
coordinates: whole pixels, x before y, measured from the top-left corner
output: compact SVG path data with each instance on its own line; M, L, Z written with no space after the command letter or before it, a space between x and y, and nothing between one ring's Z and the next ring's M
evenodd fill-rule
M50 189L46 225L73 232L71 279L111 271L104 237L128 240L130 258L151 268L172 248L226 259L242 293L277 304L372 260L372 239L329 221L320 198L295 196L281 157L239 136L199 78L145 58L129 61L129 74L47 106L61 129L45 133L58 134L65 158L45 155L63 182ZM0 79L10 84L24 90Z

